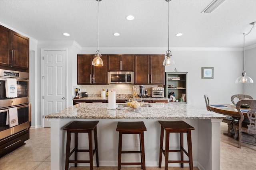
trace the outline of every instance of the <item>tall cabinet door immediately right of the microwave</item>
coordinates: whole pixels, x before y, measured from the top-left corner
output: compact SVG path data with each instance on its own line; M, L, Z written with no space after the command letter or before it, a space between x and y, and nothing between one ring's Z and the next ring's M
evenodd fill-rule
M149 55L135 55L134 84L149 84Z

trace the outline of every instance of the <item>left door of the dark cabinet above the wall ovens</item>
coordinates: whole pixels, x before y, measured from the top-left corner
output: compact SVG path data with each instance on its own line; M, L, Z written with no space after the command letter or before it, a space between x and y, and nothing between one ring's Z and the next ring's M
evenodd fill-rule
M0 25L0 65L11 66L11 30Z

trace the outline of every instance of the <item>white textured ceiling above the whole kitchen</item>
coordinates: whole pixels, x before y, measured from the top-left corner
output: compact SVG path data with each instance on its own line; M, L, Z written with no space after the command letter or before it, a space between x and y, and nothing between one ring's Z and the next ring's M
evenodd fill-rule
M201 13L211 2L170 1L170 47L243 46L243 33L256 21L256 0L225 0L212 13ZM168 47L165 0L102 0L99 10L100 47ZM126 20L128 15L135 19ZM97 47L96 0L0 0L0 23L38 41L74 40ZM245 41L256 44L256 28Z

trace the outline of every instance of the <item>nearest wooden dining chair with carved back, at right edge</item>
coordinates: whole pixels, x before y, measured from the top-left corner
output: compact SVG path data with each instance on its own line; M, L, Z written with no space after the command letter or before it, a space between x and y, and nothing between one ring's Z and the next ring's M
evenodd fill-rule
M241 111L241 105L248 104L250 110L247 111L247 117L250 123L245 123L244 113ZM236 109L240 115L238 123L234 123L234 127L238 129L238 147L241 148L242 132L256 135L256 100L240 100L236 104Z

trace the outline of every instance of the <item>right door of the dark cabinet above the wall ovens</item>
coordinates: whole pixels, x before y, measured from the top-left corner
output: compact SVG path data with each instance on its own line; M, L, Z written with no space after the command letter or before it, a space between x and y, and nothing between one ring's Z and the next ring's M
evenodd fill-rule
M13 63L16 68L29 69L29 38L12 32Z

